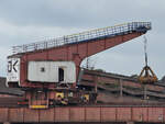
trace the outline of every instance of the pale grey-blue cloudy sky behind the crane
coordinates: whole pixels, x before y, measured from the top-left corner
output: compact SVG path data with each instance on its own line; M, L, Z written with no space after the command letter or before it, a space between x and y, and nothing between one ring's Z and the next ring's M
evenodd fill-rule
M146 33L148 64L161 79L165 75L165 0L0 0L0 76L7 75L11 46L134 21L152 22ZM143 37L97 54L91 63L109 72L140 74Z

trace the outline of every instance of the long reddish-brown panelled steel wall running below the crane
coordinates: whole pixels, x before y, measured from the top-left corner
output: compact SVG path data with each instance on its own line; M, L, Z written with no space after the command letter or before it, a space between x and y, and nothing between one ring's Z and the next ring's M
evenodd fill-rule
M72 106L48 110L0 108L0 123L53 122L164 122L165 108Z

